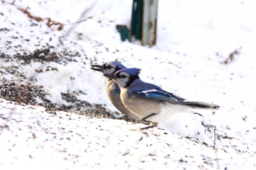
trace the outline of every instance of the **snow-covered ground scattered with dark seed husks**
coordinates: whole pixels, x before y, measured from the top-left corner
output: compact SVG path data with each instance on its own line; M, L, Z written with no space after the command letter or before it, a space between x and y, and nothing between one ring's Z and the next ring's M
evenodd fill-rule
M160 0L148 48L116 31L130 25L132 0L101 0L50 62L92 0L12 2L0 2L0 169L256 168L255 1ZM142 69L146 82L220 109L140 131L145 124L116 115L104 77L90 69L116 59Z

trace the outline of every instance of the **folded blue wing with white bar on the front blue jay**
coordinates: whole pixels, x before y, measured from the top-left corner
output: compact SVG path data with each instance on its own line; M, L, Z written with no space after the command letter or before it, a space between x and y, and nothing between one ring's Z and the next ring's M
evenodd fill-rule
M180 102L185 100L173 93L166 92L160 89L141 89L136 91L128 91L128 97L169 101L169 102Z

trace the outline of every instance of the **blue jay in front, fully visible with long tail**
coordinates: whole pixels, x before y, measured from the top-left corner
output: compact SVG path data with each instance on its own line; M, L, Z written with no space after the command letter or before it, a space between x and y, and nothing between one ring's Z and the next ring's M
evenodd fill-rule
M155 127L174 113L184 112L189 108L219 108L214 104L187 101L156 85L145 83L140 79L139 73L140 69L125 68L104 76L118 84L124 106L140 117L141 121L149 123L148 127L141 129Z

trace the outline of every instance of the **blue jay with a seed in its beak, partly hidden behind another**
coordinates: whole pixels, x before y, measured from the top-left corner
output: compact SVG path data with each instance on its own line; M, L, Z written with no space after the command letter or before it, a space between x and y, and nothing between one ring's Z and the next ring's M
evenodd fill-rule
M96 67L96 68L95 68ZM126 68L124 65L118 62L106 62L102 65L91 65L91 69L95 71L103 72L104 74L112 74L120 69ZM106 92L111 103L124 115L129 118L137 119L130 110L128 110L120 99L120 88L111 78L106 78Z

